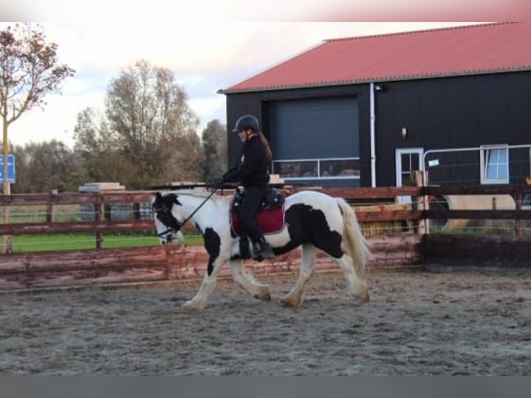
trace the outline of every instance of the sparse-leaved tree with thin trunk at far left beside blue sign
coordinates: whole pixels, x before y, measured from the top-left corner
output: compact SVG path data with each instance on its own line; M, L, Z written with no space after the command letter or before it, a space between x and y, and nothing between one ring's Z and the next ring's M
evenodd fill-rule
M3 175L8 172L8 128L31 110L44 107L44 97L60 92L74 70L57 64L57 44L46 42L42 27L15 24L0 31L0 116L3 126ZM10 193L7 178L3 193Z

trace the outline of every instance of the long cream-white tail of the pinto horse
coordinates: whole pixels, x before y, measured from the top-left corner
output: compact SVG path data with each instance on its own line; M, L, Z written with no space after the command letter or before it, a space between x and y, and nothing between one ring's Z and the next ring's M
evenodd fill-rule
M343 234L344 250L354 261L356 273L363 275L367 265L367 257L370 254L369 244L361 232L354 209L352 209L345 199L336 198L336 200L343 216L343 223L345 224L345 232Z

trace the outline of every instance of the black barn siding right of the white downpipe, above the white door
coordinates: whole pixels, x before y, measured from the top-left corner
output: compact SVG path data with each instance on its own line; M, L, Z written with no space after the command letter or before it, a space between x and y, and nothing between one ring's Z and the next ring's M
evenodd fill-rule
M381 84L383 92L376 92L378 186L395 184L395 148L531 143L531 71Z

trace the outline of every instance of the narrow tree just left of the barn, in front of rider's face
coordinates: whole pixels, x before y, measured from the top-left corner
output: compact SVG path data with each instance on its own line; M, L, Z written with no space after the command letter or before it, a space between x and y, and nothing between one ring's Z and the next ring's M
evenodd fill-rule
M214 119L204 128L201 138L203 180L219 178L227 170L227 130L218 119Z

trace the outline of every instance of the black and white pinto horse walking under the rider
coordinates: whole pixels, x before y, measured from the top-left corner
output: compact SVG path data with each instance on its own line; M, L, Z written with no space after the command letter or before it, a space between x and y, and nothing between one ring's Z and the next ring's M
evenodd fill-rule
M209 255L207 272L197 294L182 308L202 310L214 291L223 264L229 262L232 279L259 300L271 300L267 284L257 282L243 267L242 248L230 223L229 212L234 195L223 196L207 189L155 192L151 206L161 244L182 241L181 228L189 220L200 230ZM318 191L299 191L286 196L284 227L264 234L275 257L301 248L302 265L291 291L281 297L284 306L299 306L304 301L306 285L314 270L317 250L336 261L347 280L348 293L360 302L369 301L363 280L369 245L356 214L343 198L333 198Z

